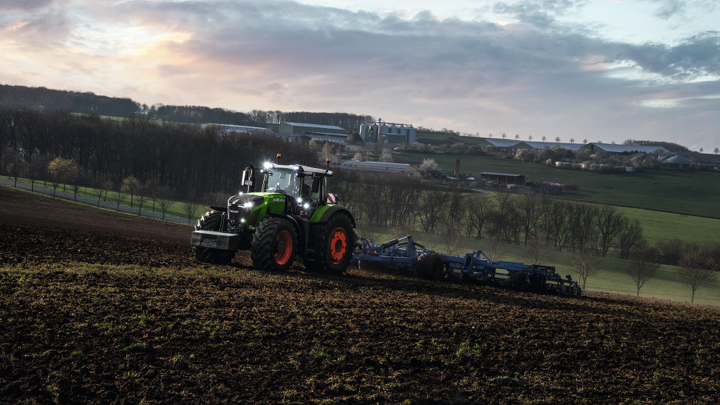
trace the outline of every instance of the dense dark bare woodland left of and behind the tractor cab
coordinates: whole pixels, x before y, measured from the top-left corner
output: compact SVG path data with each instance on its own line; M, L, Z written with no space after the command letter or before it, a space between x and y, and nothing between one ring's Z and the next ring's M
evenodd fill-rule
M0 108L0 159L22 177L50 180L49 162L69 159L80 179L119 187L133 176L143 184L171 187L178 198L239 190L243 169L282 153L285 161L314 164L309 146L261 134L229 134L191 125L125 120L68 111ZM80 181L80 180L78 180Z

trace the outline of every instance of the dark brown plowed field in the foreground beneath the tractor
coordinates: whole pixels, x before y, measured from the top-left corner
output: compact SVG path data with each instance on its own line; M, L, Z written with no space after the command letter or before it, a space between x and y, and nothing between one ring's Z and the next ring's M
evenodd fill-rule
M713 308L213 267L189 238L0 187L0 403L720 402Z

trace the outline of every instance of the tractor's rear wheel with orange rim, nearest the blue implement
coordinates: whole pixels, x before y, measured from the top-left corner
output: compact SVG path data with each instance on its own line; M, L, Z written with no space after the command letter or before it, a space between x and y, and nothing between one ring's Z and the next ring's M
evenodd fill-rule
M355 248L355 231L350 218L339 213L318 228L315 242L315 262L311 265L318 273L341 274L352 259Z

